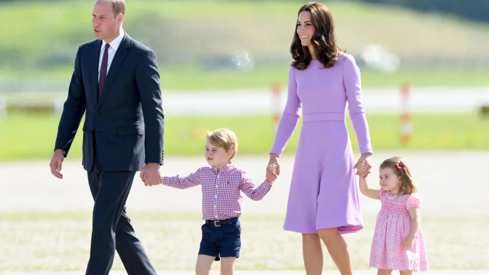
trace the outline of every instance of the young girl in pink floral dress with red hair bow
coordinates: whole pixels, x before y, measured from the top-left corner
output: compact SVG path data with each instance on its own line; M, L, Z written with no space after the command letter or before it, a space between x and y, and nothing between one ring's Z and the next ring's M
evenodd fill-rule
M363 169L364 163L358 165ZM400 275L428 270L428 260L421 231L420 198L411 172L400 157L386 159L380 164L380 190L371 189L366 177L360 177L360 191L380 200L370 266L378 275Z

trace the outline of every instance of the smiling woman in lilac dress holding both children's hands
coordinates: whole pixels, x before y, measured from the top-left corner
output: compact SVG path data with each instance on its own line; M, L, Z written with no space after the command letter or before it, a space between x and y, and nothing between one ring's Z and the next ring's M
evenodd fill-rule
M302 109L284 229L302 233L308 275L322 273L321 240L340 273L350 275L351 258L341 234L363 228L356 174L369 173L373 153L361 103L360 71L355 59L336 46L331 13L320 3L300 8L290 53L289 94L269 161L278 166L279 174L278 158ZM361 153L356 163L345 123L346 103ZM365 169L355 173L362 160Z

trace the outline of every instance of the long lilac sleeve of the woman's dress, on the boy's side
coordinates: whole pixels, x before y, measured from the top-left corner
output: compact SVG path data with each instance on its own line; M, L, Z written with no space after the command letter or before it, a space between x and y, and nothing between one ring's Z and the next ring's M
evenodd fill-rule
M281 155L292 136L300 118L301 102L297 95L294 67L289 67L289 87L287 103L277 127L275 141L270 153Z

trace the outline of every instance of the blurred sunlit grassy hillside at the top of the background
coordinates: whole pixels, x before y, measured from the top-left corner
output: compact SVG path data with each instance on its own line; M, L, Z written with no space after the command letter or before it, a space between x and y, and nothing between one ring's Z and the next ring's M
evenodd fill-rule
M307 1L128 1L125 28L133 30L136 39L161 37L170 44L198 45L202 52L244 46L287 54L303 2ZM380 43L397 55L489 54L487 25L393 7L343 1L326 4L332 10L339 42L351 50ZM6 26L0 30L1 47L40 54L53 44L63 47L93 39L91 7L92 1L4 3L0 5L0 24ZM192 45L195 42L199 43Z

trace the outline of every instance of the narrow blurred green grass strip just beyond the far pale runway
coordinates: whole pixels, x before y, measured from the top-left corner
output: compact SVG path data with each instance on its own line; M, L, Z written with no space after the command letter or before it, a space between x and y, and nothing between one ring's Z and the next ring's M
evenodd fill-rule
M288 64L266 66L249 72L237 70L211 70L202 71L191 67L160 67L161 89L163 91L189 91L225 90L225 89L264 89L273 83L282 87L288 83ZM60 81L57 91L67 90L71 78L72 68L57 69L55 71L26 71L29 81ZM483 86L489 85L489 70L480 69L416 69L400 70L389 74L373 69L362 69L362 86L364 88L399 87L402 83L417 86ZM15 71L0 71L0 80L11 80L19 77ZM189 81L191 79L192 81ZM16 85L16 84L14 84ZM53 90L49 90L53 92Z

